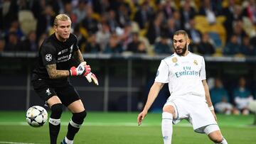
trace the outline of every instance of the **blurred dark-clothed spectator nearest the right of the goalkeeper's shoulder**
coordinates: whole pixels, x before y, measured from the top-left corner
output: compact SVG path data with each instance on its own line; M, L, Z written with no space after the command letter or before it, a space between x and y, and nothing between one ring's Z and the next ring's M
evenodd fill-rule
M89 35L85 46L85 53L98 53L100 52L100 44L96 41L95 33Z

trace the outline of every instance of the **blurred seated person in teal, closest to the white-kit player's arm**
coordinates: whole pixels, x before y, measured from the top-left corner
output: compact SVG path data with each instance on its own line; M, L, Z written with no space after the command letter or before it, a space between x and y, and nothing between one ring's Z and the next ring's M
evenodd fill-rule
M210 98L218 113L231 114L235 111L233 105L230 103L228 92L223 87L220 78L215 79L215 86L213 89L210 89Z

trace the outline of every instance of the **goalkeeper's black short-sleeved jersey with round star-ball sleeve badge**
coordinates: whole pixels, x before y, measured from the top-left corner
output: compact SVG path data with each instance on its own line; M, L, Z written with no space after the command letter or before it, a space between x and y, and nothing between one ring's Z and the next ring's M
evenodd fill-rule
M73 66L74 52L78 50L78 39L70 33L70 37L65 42L56 38L55 33L43 41L39 48L38 62L33 70L33 78L50 79L46 70L46 65L56 64L57 70L70 70ZM51 79L62 81L64 79Z

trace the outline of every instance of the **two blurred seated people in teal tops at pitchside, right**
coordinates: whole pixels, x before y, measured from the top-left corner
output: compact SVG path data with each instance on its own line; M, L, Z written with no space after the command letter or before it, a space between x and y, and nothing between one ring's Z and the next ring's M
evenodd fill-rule
M245 77L239 77L237 84L230 87L225 87L220 77L210 78L208 83L210 83L210 97L216 112L242 115L250 113L249 105L256 92L251 90Z

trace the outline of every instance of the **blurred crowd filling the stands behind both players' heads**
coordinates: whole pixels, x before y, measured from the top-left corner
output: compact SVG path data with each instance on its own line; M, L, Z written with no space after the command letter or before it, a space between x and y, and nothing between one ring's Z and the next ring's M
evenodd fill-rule
M84 53L171 54L185 29L191 52L256 55L255 0L0 0L0 52L37 51L58 13Z

